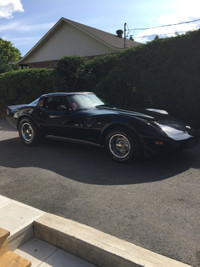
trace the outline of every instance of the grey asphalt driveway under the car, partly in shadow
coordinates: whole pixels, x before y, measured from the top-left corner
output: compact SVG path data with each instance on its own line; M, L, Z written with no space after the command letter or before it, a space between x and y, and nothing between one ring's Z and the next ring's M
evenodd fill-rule
M26 147L0 120L0 194L200 266L200 146L119 164L55 138Z

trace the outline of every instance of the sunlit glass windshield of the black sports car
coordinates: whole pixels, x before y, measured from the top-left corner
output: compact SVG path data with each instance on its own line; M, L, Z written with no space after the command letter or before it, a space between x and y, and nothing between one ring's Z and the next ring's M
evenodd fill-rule
M94 108L104 105L95 94L76 94L68 96L72 107L75 109Z

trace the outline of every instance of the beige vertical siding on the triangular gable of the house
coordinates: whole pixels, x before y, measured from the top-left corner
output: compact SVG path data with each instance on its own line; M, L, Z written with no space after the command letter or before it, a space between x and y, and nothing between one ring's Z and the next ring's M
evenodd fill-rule
M57 60L63 55L96 56L115 52L90 35L65 23L24 63Z

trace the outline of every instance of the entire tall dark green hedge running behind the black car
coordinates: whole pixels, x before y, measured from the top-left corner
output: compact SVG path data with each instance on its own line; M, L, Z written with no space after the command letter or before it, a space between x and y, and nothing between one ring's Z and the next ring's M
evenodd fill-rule
M94 91L110 105L168 110L200 128L200 31L158 39L124 52L64 57L55 69L0 75L0 109L52 91Z

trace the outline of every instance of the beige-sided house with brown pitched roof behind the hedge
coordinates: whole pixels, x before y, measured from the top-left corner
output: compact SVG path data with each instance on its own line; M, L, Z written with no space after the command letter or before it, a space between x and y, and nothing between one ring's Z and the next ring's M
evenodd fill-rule
M63 56L94 57L117 53L124 49L122 34L122 30L114 35L61 18L17 63L22 67L51 68ZM130 48L139 43L126 39L125 45Z

